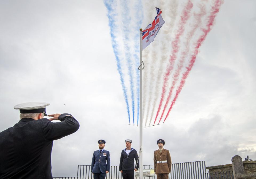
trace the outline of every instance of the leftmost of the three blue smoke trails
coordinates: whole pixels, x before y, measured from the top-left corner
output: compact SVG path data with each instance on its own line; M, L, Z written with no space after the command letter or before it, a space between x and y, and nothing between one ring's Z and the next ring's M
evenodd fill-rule
M127 107L127 113L128 113L128 118L129 118L129 124L130 124L130 109L129 109L129 104L128 104L127 90L126 90L124 79L123 79L123 72L121 71L121 62L120 62L120 58L119 58L119 52L117 49L118 44L116 41L116 36L114 34L114 32L117 30L116 21L115 21L115 17L117 16L117 13L114 10L114 5L116 6L117 2L113 1L113 0L104 0L104 4L107 8L107 17L109 19L111 42L112 42L112 47L113 47L113 51L115 54L115 59L117 62L117 71L120 75L123 95L125 97L125 103L126 103L126 107Z

